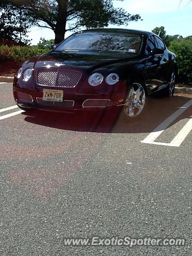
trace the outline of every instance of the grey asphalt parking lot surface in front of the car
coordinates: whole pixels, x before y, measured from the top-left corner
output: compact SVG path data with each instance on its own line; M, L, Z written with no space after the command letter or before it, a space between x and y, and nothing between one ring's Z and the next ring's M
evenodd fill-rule
M137 122L90 111L9 117L19 109L1 112L14 100L0 83L0 255L192 255L192 133L182 130L192 106L155 140L169 144L182 131L179 147L141 142L190 100L150 99ZM181 237L186 246L63 243L92 236Z

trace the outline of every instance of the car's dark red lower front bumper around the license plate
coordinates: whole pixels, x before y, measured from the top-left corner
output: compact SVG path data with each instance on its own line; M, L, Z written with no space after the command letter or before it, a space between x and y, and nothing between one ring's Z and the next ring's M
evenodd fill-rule
M63 90L63 102L43 101L43 88L38 91L19 88L13 85L13 96L19 107L49 111L69 111L85 109L109 109L121 105L125 91L101 94L77 94Z

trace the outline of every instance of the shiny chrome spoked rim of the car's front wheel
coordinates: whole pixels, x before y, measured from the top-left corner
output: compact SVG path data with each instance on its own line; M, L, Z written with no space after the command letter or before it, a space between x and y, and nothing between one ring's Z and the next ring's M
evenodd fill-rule
M133 83L125 101L125 114L132 118L139 116L145 106L145 102L146 93L142 85L139 83Z

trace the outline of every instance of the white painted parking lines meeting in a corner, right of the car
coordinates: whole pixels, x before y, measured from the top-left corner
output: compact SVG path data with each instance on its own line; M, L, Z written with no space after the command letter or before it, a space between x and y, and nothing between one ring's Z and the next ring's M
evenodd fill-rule
M159 135L171 124L175 119L177 119L183 112L185 112L192 105L192 100L189 100L185 105L183 105L179 110L175 111L170 117L168 117L163 123L161 123L156 129L151 132L142 143L179 147L183 140L187 137L190 130L192 129L191 119L182 128L178 135L171 141L171 143L155 142Z

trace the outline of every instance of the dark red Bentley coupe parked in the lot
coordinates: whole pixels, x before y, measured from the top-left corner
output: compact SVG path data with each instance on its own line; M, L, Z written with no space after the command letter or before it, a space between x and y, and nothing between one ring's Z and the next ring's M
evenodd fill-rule
M13 94L24 110L123 108L141 116L147 96L174 93L175 54L157 35L127 29L79 31L24 61Z

